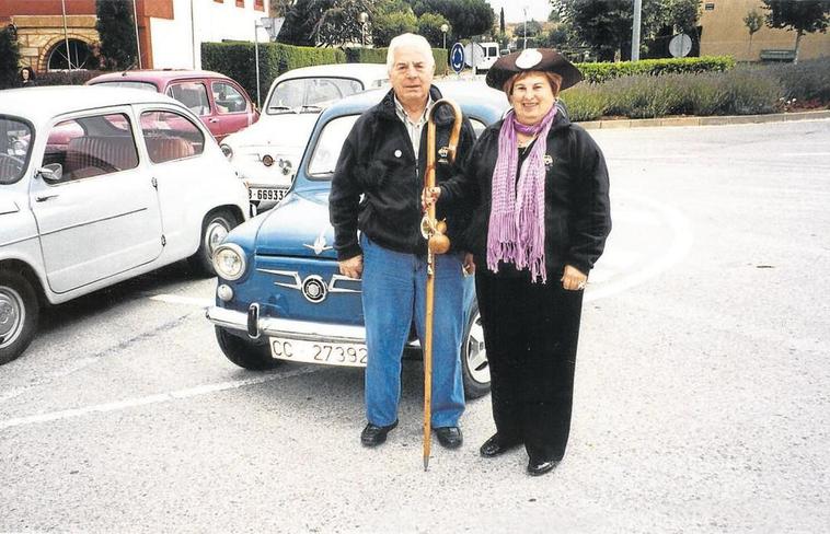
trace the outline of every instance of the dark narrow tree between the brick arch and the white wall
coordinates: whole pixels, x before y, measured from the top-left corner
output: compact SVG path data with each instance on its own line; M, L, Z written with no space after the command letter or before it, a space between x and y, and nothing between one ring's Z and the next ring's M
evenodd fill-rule
M101 36L104 67L124 70L138 63L132 3L122 0L95 0L95 30Z

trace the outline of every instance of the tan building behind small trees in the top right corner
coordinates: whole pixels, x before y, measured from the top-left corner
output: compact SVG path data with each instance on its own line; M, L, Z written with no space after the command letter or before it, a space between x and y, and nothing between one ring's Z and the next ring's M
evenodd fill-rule
M703 0L701 2L701 54L733 56L738 61L792 58L795 31L773 30L765 22L751 39L743 19L751 11L765 16L760 0ZM798 59L830 56L830 33L805 34Z

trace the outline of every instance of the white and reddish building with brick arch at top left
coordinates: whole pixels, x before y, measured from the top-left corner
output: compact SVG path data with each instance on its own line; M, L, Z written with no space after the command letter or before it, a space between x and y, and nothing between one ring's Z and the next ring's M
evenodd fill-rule
M135 0L140 67L200 69L201 43L254 40L254 31L267 40L256 27L266 1ZM95 0L0 1L0 26L14 26L22 66L38 72L97 68L95 21Z

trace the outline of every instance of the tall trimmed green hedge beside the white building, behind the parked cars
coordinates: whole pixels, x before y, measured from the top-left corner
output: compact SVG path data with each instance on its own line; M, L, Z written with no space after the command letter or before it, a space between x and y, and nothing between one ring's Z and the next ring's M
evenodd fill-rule
M337 48L291 46L281 43L260 45L260 94L268 93L270 83L283 72L300 67L345 63L346 54ZM203 43L201 67L221 72L242 84L256 100L256 66L253 43Z

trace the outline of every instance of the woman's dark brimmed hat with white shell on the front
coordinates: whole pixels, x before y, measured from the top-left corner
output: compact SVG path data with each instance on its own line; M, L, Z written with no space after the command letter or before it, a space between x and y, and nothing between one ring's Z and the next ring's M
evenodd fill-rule
M583 80L579 69L553 48L527 48L498 58L487 71L486 82L491 88L504 91L505 82L510 77L531 70L561 76L560 91L576 85Z

